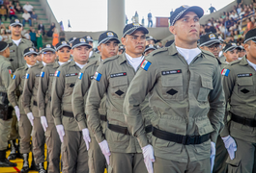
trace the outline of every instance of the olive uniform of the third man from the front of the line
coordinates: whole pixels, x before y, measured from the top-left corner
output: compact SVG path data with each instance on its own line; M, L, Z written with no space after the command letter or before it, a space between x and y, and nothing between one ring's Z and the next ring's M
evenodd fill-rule
M73 93L72 93L72 111L74 118L78 123L79 129L87 128L85 102L87 98L87 91L91 86L91 81L94 79L94 74L99 66L99 61L91 61L81 69L78 80L76 80ZM100 102L100 129L103 134L106 129L106 105L105 97ZM90 131L90 129L89 129ZM88 151L89 156L89 171L90 173L104 172L106 161L101 153L99 143L96 141L95 136L90 131L91 143Z

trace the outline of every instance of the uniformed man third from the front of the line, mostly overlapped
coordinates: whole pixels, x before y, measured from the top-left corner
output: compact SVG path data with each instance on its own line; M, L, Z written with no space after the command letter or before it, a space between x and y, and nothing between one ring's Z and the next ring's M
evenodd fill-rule
M89 87L91 86L91 80L94 77L94 74L100 65L101 61L104 61L107 58L116 56L118 53L118 44L120 43L118 36L112 32L107 31L100 35L99 37L99 45L98 49L100 51L100 60L99 61L91 61L89 59L89 63L82 68L78 80L75 83L73 94L72 94L72 111L77 121L79 128L85 131L87 128L86 123L86 115L85 115L85 101L86 95ZM100 128L102 129L103 135L106 130L106 103L105 97L100 102ZM88 151L89 154L89 171L90 173L102 173L106 167L106 160L104 155L100 150L100 145L98 144L95 136L90 131L91 134L91 143L90 149ZM89 141L86 139L86 134L83 134L88 148Z

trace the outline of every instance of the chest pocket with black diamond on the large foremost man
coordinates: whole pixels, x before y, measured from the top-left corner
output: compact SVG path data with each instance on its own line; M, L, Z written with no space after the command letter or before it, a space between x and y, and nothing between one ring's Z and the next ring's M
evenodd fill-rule
M168 100L184 100L183 75L172 74L161 77L162 96Z

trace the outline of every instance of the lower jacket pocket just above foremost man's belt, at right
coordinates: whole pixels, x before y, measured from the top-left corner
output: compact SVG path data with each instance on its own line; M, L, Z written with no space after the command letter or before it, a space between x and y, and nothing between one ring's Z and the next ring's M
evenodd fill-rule
M205 118L203 120L196 120L195 124L197 126L197 131L200 136L210 134L214 131L209 118Z

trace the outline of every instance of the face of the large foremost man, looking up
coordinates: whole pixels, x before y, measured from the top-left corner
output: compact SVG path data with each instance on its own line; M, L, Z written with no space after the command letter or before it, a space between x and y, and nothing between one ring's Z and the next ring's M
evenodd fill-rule
M194 44L199 39L199 17L195 12L186 12L169 29L177 41Z

